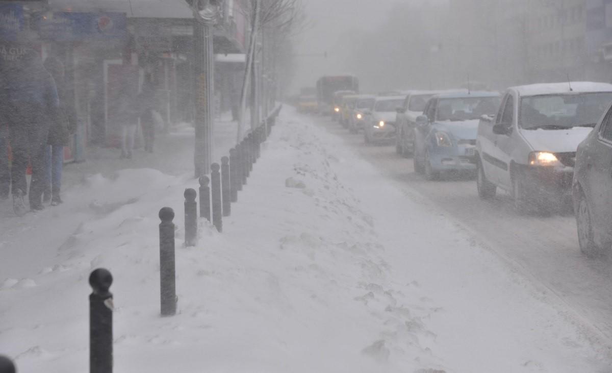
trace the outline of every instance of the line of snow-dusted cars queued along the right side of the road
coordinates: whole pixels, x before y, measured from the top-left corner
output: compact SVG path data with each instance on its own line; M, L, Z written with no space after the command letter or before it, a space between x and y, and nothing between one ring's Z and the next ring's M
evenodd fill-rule
M391 143L435 180L476 176L483 200L506 190L520 214L573 206L581 251L612 249L612 85L569 81L508 88L341 97L337 119L364 143Z

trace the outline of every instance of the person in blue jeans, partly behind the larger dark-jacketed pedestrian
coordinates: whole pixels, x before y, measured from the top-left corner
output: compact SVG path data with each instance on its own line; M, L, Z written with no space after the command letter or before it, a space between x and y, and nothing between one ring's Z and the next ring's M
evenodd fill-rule
M59 192L62 187L62 168L64 168L64 146L69 145L70 136L76 132L76 115L68 100L65 83L64 64L56 57L45 59L45 69L55 80L59 96L59 111L56 120L50 122L46 154L47 179L43 201L51 201L51 206L62 203ZM53 119L53 118L50 118Z

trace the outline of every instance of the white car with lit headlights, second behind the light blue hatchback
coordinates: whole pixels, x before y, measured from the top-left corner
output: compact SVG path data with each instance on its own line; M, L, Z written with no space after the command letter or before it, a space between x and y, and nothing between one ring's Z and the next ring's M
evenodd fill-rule
M365 143L389 141L395 138L395 109L404 96L378 96L364 124Z

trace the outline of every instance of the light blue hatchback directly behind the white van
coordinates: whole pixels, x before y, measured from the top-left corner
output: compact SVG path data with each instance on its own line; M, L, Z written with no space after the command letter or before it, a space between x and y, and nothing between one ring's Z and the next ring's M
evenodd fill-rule
M428 180L444 171L476 171L479 119L493 116L498 92L455 92L431 97L414 128L414 171Z

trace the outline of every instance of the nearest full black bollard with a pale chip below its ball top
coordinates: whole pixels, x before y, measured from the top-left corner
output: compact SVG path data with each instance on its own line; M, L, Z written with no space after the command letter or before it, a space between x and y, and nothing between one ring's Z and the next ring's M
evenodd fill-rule
M113 372L113 276L104 268L89 275L89 373Z

